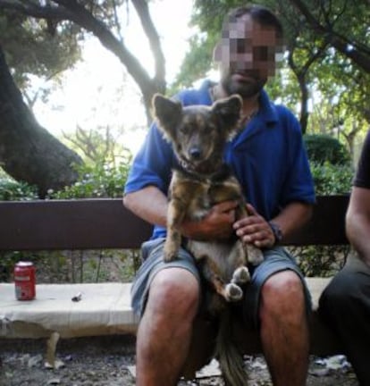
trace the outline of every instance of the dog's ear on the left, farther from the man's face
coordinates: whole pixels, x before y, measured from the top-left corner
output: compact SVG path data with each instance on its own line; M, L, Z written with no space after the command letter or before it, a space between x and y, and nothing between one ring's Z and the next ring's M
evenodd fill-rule
M181 102L156 94L153 96L152 105L159 129L166 137L172 138L181 120Z

